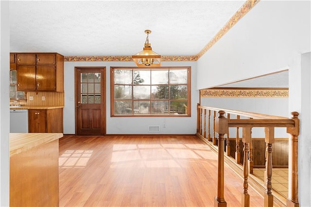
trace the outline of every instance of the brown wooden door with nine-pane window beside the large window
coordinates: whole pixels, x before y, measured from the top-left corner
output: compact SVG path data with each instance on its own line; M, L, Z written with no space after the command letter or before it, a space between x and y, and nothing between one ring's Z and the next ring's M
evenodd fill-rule
M105 135L105 67L75 67L76 135Z

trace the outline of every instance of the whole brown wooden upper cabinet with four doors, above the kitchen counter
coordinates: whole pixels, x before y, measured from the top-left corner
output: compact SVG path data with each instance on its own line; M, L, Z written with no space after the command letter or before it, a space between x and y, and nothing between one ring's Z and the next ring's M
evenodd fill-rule
M64 56L17 53L17 90L64 92Z

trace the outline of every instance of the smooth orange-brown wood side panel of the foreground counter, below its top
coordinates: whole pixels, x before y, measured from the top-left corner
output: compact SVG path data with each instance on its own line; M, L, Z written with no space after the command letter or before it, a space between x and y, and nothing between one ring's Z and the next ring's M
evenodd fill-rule
M10 206L59 206L58 139L10 157Z

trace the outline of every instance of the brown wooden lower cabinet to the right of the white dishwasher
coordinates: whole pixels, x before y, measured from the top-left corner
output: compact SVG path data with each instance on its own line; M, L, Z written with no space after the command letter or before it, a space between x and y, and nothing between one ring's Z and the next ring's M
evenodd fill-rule
M29 133L63 133L63 108L29 109Z

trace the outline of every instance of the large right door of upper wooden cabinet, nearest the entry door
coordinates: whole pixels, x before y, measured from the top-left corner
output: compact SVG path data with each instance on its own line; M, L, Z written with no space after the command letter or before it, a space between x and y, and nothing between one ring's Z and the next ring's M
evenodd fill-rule
M55 90L55 67L37 66L35 79L37 90Z

